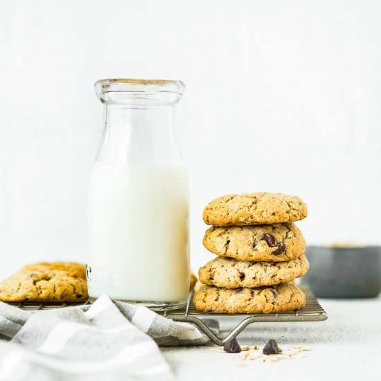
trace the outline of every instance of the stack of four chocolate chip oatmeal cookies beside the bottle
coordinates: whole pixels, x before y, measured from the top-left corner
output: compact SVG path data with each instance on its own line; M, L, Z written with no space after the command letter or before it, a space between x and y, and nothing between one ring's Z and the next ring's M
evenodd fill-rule
M204 312L271 313L299 310L305 295L294 279L308 271L305 240L292 222L307 216L299 197L281 193L227 195L204 209L213 225L206 249L218 257L200 268L204 285L195 308Z

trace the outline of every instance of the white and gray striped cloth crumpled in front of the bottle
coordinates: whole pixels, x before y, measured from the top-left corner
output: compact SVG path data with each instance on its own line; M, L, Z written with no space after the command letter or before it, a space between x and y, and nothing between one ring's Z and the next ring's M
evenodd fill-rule
M0 302L0 338L1 381L172 380L157 344L209 342L193 324L107 295L92 305L40 311Z

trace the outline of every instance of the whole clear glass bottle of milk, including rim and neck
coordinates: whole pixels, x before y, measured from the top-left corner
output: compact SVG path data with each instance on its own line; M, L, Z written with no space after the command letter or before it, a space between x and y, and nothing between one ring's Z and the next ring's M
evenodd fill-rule
M89 181L89 296L150 308L189 291L188 177L175 138L172 80L100 80L105 121Z

